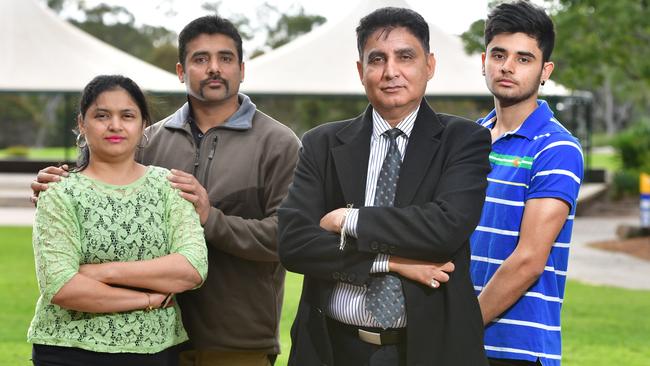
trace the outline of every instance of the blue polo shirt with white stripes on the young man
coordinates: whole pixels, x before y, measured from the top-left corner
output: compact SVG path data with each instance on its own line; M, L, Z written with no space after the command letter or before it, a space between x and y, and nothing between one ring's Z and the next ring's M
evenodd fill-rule
M517 246L527 200L558 198L571 206L543 274L485 328L488 357L539 358L544 365L560 365L560 309L583 156L578 140L555 119L548 104L537 105L519 128L492 144L483 213L471 237L470 270L478 294ZM494 110L478 120L487 128L495 122Z

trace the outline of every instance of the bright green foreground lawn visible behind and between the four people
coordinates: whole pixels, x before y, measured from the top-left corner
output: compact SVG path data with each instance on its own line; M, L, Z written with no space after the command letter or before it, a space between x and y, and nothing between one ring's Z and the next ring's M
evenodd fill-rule
M37 297L31 228L0 227L0 366L27 366L25 334ZM289 328L301 277L287 275L281 339L286 365ZM564 366L650 365L650 291L589 286L569 281L563 310Z

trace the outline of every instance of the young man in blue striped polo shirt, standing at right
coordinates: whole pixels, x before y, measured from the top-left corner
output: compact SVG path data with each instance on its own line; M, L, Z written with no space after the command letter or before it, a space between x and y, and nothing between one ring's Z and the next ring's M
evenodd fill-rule
M553 22L526 1L488 16L483 74L495 109L492 171L479 226L471 237L471 274L491 365L560 365L560 308L582 149L553 116L538 87L553 71Z

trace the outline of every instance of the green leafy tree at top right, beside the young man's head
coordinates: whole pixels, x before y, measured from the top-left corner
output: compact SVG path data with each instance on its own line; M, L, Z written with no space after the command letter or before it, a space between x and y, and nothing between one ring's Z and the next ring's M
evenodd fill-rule
M594 92L596 116L608 134L650 107L650 8L645 0L560 0L557 78Z

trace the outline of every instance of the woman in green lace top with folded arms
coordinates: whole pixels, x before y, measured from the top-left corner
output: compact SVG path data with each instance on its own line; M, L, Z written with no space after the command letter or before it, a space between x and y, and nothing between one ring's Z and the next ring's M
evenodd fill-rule
M200 286L207 249L194 207L163 168L134 160L150 121L123 76L84 89L78 168L40 195L35 365L175 365L187 340L175 293Z

